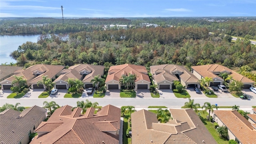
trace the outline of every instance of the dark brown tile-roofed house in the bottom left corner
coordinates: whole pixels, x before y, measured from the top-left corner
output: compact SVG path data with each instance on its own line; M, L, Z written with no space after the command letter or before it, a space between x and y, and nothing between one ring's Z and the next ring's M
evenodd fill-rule
M46 109L32 106L23 112L8 109L0 113L0 143L28 144L29 136L45 120Z

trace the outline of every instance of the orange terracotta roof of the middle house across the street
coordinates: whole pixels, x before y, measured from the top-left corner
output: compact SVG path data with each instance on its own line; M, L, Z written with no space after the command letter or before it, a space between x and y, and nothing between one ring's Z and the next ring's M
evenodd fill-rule
M122 78L122 74L128 75L129 73L134 73L136 75L135 82L138 82L140 80L150 82L146 67L133 64L110 66L110 69L108 70L108 76L105 82L109 82L110 80L116 80L119 82L120 78Z

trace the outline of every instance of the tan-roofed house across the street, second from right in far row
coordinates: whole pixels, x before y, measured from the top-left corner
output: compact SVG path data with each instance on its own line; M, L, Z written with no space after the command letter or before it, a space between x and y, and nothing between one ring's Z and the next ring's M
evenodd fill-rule
M158 85L158 89L171 89L174 80L180 81L185 88L193 88L195 86L200 88L198 78L184 66L175 64L150 66L150 73Z

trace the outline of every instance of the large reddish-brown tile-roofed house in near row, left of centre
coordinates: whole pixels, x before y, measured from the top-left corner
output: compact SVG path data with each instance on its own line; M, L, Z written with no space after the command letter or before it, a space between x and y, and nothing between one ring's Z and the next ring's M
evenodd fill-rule
M118 144L121 109L112 105L88 108L63 106L54 111L47 122L35 130L38 133L30 144Z

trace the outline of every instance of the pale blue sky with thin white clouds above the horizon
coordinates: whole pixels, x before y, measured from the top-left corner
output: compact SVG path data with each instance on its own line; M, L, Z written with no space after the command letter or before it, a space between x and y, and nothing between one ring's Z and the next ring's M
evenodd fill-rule
M0 17L256 16L256 0L0 0Z

